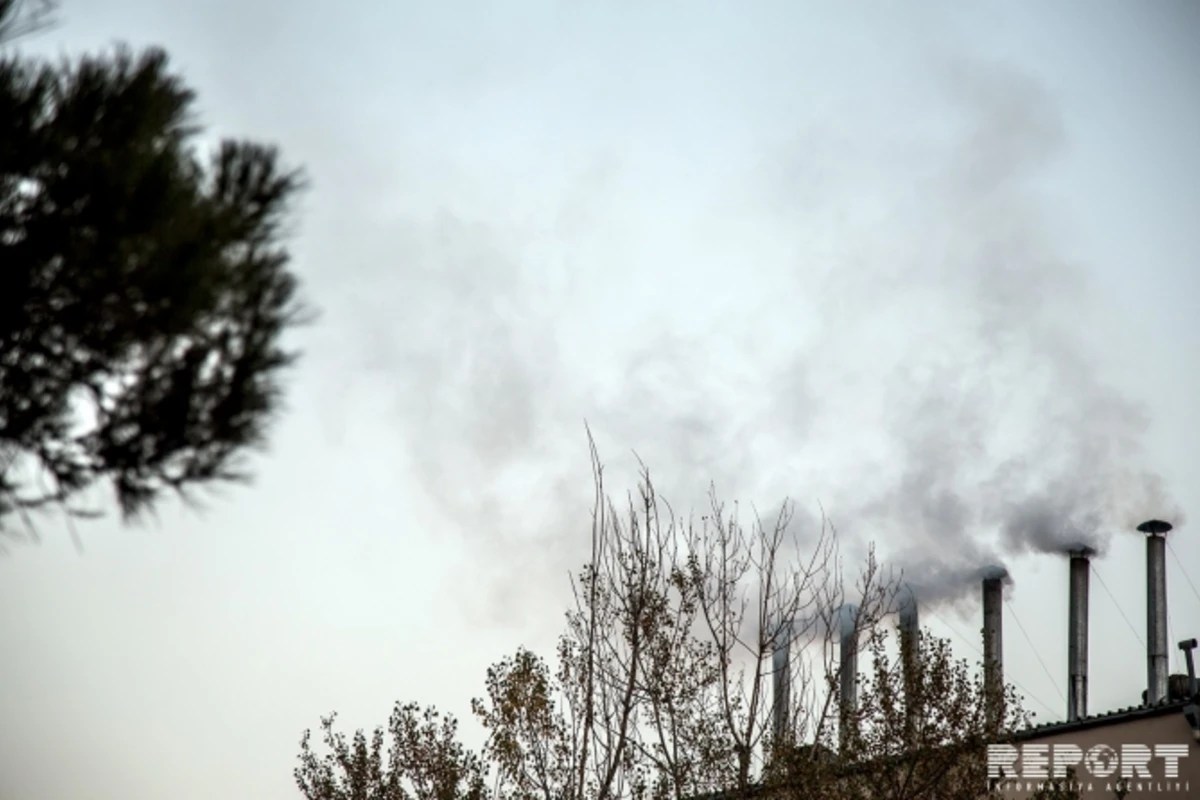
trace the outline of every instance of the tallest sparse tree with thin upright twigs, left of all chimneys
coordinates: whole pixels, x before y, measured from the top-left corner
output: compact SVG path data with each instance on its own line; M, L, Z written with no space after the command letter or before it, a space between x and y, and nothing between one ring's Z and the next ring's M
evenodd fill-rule
M719 759L697 714L715 673L691 638L696 607L648 476L622 515L594 449L593 467L592 552L572 578L558 667L520 651L488 672L474 703L485 754L505 795L679 796L706 769L698 753Z

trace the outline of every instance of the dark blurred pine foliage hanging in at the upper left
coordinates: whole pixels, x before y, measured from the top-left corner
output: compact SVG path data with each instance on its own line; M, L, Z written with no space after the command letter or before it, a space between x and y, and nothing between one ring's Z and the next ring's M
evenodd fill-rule
M200 152L193 101L158 49L0 59L0 528L95 485L136 515L264 441L302 179L262 144Z

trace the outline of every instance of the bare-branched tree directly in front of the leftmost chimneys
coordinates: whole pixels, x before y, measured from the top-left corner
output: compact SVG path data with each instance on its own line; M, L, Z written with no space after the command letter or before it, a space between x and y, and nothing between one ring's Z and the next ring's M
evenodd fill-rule
M770 752L790 742L820 741L834 729L839 674L839 612L847 595L856 601L853 625L877 624L887 587L869 558L853 591L839 569L836 531L822 519L802 555L785 504L770 528L757 517L744 528L712 497L712 513L688 531L688 578L720 672L719 721L732 742L733 770L726 787L746 790ZM800 643L821 654L791 675L786 742L774 742L769 724L772 655Z

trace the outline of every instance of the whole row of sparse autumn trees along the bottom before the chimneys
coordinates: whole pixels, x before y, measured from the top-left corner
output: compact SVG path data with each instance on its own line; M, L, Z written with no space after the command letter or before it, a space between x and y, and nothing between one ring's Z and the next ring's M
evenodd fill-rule
M770 524L743 527L714 497L694 525L670 513L648 474L618 512L595 468L590 558L572 582L556 657L521 649L487 670L485 696L472 703L486 741L480 760L470 760L486 769L470 775L486 772L488 783L461 782L460 794L448 796L977 800L986 793L985 745L1028 722L1021 698L1006 688L997 732L984 712L996 698L948 642L923 633L893 658L887 619L896 582L870 553L846 587L828 524L802 540L790 533L785 506ZM840 633L832 632L847 601L859 609L868 667L857 706L842 712ZM778 620L796 624L785 631ZM787 729L776 740L770 656L796 642L811 658L796 670ZM377 730L376 741L382 736ZM358 738L366 747L365 734ZM454 765L467 757L457 740L437 746L446 748L451 774L461 774ZM313 780L304 747L305 796L352 796ZM402 760L373 771L343 766L337 786L359 774L373 777L353 796L409 796L385 793L413 780Z

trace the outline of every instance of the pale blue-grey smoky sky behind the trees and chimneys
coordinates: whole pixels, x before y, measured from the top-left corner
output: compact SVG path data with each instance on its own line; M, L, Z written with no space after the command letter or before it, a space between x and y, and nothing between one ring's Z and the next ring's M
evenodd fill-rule
M1145 546L1200 634L1200 6L65 0L26 53L161 46L206 142L311 181L320 315L251 487L0 558L0 796L294 798L300 735L548 655L587 429L679 510L823 510L1064 715L1146 682ZM584 427L587 423L588 428ZM636 457L635 457L636 453ZM954 606L954 601L966 600Z

